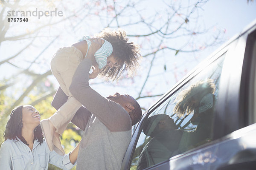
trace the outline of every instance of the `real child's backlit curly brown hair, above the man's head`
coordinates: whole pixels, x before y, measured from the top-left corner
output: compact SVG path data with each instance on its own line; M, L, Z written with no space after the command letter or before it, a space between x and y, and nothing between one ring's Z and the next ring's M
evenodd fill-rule
M128 42L126 32L121 28L113 31L109 28L105 28L95 37L103 38L111 43L113 46L113 57L119 62L119 67L105 67L100 72L101 77L105 77L108 80L118 80L124 71L128 71L129 75L136 74L137 68L140 66L138 60L140 56L139 45L134 42Z

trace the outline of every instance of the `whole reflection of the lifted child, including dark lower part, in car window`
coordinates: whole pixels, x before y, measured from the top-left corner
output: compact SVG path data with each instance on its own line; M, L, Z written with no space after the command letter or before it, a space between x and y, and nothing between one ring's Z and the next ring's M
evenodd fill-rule
M190 123L197 125L195 133L186 139L189 147L196 147L211 141L215 84L212 79L199 81L181 91L177 97L174 112L181 117L194 112Z

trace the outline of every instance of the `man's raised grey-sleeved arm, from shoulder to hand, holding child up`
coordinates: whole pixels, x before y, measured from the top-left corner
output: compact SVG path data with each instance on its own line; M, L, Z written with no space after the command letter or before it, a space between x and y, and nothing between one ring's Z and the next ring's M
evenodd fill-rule
M111 100L102 97L89 86L89 71L94 62L97 44L90 46L87 57L81 61L73 75L70 92L91 113L93 113L111 131L131 129L131 119L125 109Z

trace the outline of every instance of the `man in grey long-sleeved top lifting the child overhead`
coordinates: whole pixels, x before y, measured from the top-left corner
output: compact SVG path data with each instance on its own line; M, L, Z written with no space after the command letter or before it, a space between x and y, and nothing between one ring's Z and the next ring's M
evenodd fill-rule
M131 126L140 120L142 112L136 100L127 94L104 98L90 88L88 75L101 41L94 40L92 46L94 49L79 64L70 85L70 92L84 106L71 121L84 130L76 168L119 170L131 141ZM59 88L52 106L58 109L66 101L67 96Z

